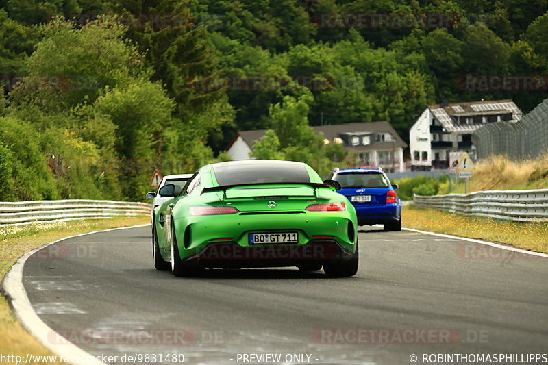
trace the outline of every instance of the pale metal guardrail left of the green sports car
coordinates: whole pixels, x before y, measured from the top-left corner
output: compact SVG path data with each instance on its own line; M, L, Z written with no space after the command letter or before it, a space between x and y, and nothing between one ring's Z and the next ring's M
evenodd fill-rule
M151 205L108 200L0 201L0 227L72 219L144 216Z

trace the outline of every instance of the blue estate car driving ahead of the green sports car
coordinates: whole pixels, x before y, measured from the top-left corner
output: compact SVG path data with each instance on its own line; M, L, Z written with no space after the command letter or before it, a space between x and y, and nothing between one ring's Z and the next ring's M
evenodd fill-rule
M401 201L395 191L398 186L390 184L381 169L335 168L329 180L338 183L337 192L356 208L358 225L382 224L385 231L401 231Z

